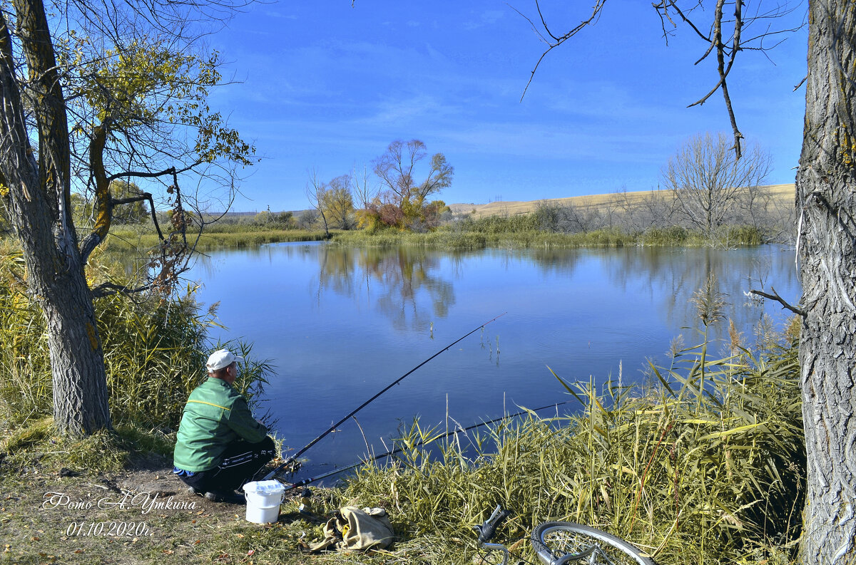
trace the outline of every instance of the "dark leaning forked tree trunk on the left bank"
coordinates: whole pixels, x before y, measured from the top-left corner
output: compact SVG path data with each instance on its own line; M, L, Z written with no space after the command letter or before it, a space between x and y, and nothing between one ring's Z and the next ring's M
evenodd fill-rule
M0 176L9 187L11 220L27 264L27 287L47 321L54 424L63 432L110 427L104 353L70 202L68 119L45 9L13 0L27 82L0 13ZM36 121L28 131L21 84ZM30 139L38 135L38 150ZM38 161L36 156L38 156Z

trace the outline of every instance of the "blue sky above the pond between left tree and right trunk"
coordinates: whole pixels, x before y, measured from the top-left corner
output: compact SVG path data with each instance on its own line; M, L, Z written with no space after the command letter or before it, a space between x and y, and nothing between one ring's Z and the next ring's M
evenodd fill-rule
M535 17L533 0L510 0ZM542 3L556 32L591 3ZM795 15L800 20L805 10ZM210 38L229 62L212 106L252 140L235 210L306 209L321 180L371 168L395 139L442 152L455 180L446 203L536 200L657 187L660 168L699 132L730 131L715 58L687 27L663 40L651 3L611 0L596 26L546 57L507 3L294 0L255 4ZM768 56L742 53L729 79L741 131L769 150L770 184L794 181L805 90L805 32ZM427 161L427 160L426 160Z

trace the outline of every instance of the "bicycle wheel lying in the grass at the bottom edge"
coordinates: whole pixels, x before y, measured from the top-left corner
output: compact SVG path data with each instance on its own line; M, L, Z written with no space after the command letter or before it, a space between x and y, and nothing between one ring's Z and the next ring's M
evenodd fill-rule
M550 521L538 524L532 531L532 547L544 565L579 561L590 565L656 565L635 545L598 530L574 522ZM592 550L593 548L593 550Z

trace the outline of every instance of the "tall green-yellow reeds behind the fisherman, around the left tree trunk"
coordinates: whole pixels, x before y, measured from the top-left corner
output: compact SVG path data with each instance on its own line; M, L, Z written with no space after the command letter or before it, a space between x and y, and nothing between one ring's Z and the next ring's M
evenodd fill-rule
M52 414L53 397L45 319L27 297L21 253L0 244L0 418L6 427ZM121 280L122 269L96 253L87 268L92 282ZM205 358L215 344L215 308L203 309L188 286L173 297L115 295L95 303L102 340L110 415L116 425L174 430L187 396L205 376ZM253 402L270 374L252 346L225 344L247 359L240 385Z

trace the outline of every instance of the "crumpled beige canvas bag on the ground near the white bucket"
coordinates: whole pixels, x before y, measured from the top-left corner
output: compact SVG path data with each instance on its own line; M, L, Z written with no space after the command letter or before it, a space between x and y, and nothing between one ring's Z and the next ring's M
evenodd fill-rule
M380 550L389 547L394 538L385 509L343 506L324 524L324 539L310 544L308 550Z

